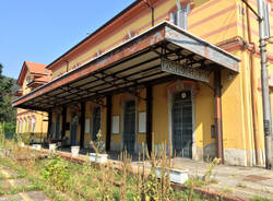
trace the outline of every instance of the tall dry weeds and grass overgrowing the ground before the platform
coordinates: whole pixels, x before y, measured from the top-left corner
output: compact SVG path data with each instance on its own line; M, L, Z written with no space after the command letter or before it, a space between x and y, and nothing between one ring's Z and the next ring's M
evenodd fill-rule
M3 146L3 145L2 145ZM201 198L194 192L194 187L207 186L215 165L212 162L204 179L190 178L186 182L186 190L171 188L169 169L170 158L166 149L147 154L144 152L139 157L136 174L132 173L131 158L127 153L120 155L119 170L108 164L76 164L64 161L57 155L40 159L39 152L27 147L20 147L15 142L7 141L5 149L12 150L12 157L0 158L0 165L16 172L13 178L25 178L29 186L3 189L0 196L14 194L22 191L41 190L49 198L57 201L69 200L97 200L97 201L205 201L216 199ZM25 158L19 161L17 158ZM141 161L142 158L142 161ZM144 158L150 163L149 176ZM156 168L162 172L162 179L157 179ZM4 178L0 178L4 179ZM252 201L272 201L254 198Z

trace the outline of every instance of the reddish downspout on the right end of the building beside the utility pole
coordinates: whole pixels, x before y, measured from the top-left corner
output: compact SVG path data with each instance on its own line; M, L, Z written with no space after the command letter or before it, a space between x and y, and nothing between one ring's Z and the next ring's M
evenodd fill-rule
M247 3L249 0L247 0ZM247 28L248 28L248 43L252 45L252 49L250 51L249 64L250 64L250 78L251 78L251 107L252 107L252 120L253 120L253 139L254 139L254 153L256 153L256 165L258 164L258 130L257 130L257 117L256 117L256 95L254 95L254 61L253 61L253 51L254 51L254 44L252 43L252 33L251 33L251 24L250 24L250 13L249 8L247 7Z

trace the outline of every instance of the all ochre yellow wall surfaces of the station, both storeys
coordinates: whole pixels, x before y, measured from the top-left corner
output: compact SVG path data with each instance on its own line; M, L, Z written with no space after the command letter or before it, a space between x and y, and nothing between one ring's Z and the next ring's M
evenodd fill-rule
M155 24L169 19L169 12L176 7L177 0L158 0L155 4ZM223 43L234 37L240 37L249 43L249 33L247 24L246 5L241 0L195 0L195 7L190 12L188 17L188 31L212 44ZM251 7L257 10L256 0L249 0ZM273 14L271 12L271 24L273 24ZM259 27L254 15L250 11L250 31L251 40L256 43L258 49L259 44ZM67 56L69 61L69 70L76 63L79 66L90 61L95 57L95 54L107 51L121 43L128 31L143 33L151 27L151 11L147 8L142 8L133 17L124 15L122 23L112 23L104 29L104 33L98 34L93 39L82 45L73 54ZM271 27L273 27L271 25ZM273 29L272 29L273 33ZM273 54L273 46L268 46L269 54ZM263 121L262 121L262 96L261 75L260 75L260 58L259 52L253 56L253 83L251 86L251 66L250 52L247 49L236 49L230 51L233 55L240 58L240 72L235 73L229 70L222 71L222 116L223 116L223 145L225 161L236 165L254 164L254 149L258 150L258 162L263 164ZM273 73L272 62L269 63L270 74ZM58 61L55 64L52 76L56 78L60 73L67 71L64 60ZM26 74L27 78L28 74ZM153 86L153 133L154 143L162 144L168 141L168 96L166 95L166 86L169 83L162 83ZM213 74L211 82L213 86ZM254 96L254 113L252 113L251 87L253 87ZM27 93L25 81L23 84L23 93ZM202 149L215 143L215 139L211 137L211 126L214 125L214 92L204 83L199 83L199 91L194 95L194 134L197 151L202 153ZM141 96L145 97L145 90L141 91ZM111 134L111 142L120 143L122 135L122 103L127 98L134 98L128 94L116 94L112 96L112 116L120 116L120 133ZM273 98L272 98L273 102ZM105 103L105 99L104 99ZM145 111L145 102L136 100L138 114ZM92 122L92 103L86 103L85 115ZM68 108L67 122L70 122L71 108ZM253 122L253 115L256 122ZM55 120L55 115L54 115ZM79 117L80 120L80 117ZM253 123L257 125L254 137ZM38 123L37 123L38 125ZM25 126L23 126L25 128ZM44 128L44 127L43 127ZM61 128L61 127L60 127ZM138 117L136 117L138 129ZM92 131L92 123L91 123ZM106 108L102 108L102 132L106 137ZM138 132L138 131L136 131ZM70 138L70 131L66 131ZM90 141L90 133L85 133L85 142ZM80 122L78 130L78 139L80 138ZM145 133L136 133L136 142L140 144L145 142ZM256 143L257 142L257 143ZM257 147L256 147L257 146ZM205 149L204 149L205 150Z

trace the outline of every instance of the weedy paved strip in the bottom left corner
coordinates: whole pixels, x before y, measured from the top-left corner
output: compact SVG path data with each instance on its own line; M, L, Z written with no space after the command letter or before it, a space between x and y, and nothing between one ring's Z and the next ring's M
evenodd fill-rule
M50 201L41 191L25 191L31 187L27 179L19 178L19 175L5 166L0 166L0 192L10 192L7 196L0 196L0 201ZM19 191L13 194L12 191Z

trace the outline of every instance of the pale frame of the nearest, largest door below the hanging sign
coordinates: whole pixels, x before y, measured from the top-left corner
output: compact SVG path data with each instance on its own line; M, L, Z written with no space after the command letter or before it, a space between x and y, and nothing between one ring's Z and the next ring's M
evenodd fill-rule
M191 92L191 104L192 104L192 159L197 157L197 141L195 141L195 102L194 102L194 86L191 88L181 88L174 94L168 90L168 140L167 140L167 153L173 156L173 106L174 95L182 91Z

